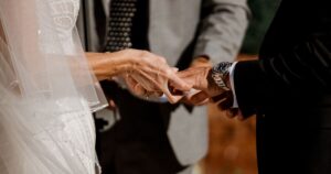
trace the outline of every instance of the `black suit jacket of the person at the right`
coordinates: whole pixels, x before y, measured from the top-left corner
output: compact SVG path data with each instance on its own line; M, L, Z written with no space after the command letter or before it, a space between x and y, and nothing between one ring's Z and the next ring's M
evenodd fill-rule
M259 173L331 173L330 0L284 0L234 86L243 113L257 113Z

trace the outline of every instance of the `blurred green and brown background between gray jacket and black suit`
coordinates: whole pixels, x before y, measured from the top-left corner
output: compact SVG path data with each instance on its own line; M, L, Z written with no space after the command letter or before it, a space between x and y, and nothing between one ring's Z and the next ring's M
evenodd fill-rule
M248 0L250 24L238 59L257 58L259 45L280 0ZM255 117L229 119L216 106L209 106L210 148L195 174L257 174Z

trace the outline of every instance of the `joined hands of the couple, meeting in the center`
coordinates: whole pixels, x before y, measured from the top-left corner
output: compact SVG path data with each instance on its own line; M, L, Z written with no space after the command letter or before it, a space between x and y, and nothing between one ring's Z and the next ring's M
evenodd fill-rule
M237 115L237 109L232 109L232 91L223 90L211 80L212 66L205 58L196 58L190 68L179 72L170 67L166 58L149 52L130 50L122 54L129 54L126 56L130 57L130 64L121 67L125 70L118 76L125 79L131 94L147 99L164 95L171 104L195 106L211 100L217 102L228 116Z

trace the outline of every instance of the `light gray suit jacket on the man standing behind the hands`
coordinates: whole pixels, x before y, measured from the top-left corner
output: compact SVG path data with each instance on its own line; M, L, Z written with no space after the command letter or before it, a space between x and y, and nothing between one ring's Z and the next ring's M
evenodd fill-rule
M105 13L109 1L103 0ZM85 23L78 22L81 36L90 51L100 51L96 34L94 0L86 0ZM234 61L241 47L248 23L246 0L149 0L150 21L148 40L150 51L168 58L175 66L184 50L193 40L193 57L205 55L214 63ZM201 18L202 17L202 18ZM85 35L83 34L85 33ZM201 160L207 151L206 107L188 111L180 106L170 118L168 137L177 159L182 165Z

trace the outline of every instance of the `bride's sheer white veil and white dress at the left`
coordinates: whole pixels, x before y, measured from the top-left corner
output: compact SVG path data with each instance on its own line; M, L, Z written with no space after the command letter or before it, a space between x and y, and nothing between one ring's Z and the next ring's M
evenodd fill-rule
M107 106L75 29L79 0L0 1L0 173L95 174Z

